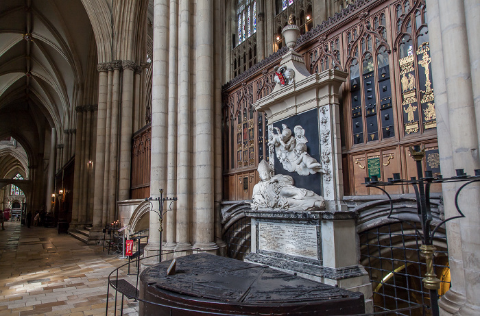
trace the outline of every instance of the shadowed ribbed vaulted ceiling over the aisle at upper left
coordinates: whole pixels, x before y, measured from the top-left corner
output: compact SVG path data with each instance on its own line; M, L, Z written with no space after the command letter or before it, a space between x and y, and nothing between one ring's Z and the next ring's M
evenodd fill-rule
M75 127L75 106L93 95L84 82L96 65L81 0L0 1L0 139L14 137L34 165L51 128L60 143Z

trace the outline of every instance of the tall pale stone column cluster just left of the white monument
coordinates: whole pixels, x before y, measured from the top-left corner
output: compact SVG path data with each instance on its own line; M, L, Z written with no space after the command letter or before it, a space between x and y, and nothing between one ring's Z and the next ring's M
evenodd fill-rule
M150 193L178 197L163 221L167 250L216 253L221 199L221 1L156 0ZM217 46L219 45L219 46ZM217 53L218 55L218 53ZM158 253L150 215L149 254ZM218 233L218 234L217 234ZM164 249L165 249L164 248Z

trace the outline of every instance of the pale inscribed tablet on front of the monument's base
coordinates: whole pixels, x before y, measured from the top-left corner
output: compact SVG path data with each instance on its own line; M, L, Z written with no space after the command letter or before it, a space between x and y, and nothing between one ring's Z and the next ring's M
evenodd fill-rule
M317 227L259 222L259 250L318 259Z

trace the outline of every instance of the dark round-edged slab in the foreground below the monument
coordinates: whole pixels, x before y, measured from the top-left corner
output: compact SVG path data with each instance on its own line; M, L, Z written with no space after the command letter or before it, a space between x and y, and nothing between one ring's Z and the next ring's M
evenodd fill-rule
M292 276L263 265L193 254L145 269L139 315L351 315L364 313L362 293ZM159 304L159 305L157 305ZM167 305L160 306L160 305Z

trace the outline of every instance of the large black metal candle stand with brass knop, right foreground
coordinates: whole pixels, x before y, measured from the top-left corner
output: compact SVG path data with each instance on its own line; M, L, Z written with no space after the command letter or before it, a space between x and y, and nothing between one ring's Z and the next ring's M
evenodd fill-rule
M467 175L464 172L464 169L456 169L457 175L451 178L443 178L442 175L433 176L432 171L425 171L425 176L423 176L422 170L422 160L425 157L425 147L422 146L413 146L410 147L410 153L413 157L413 160L416 161L417 165L417 177L411 177L410 180L403 180L400 179L400 173L394 173L394 178L388 178L387 182L379 181L378 176L372 175L372 178L365 178L365 184L367 187L372 187L383 191L389 199L390 202L390 212L387 218L389 219L397 219L398 221L405 221L403 219L399 219L396 217L392 217L392 213L394 210L394 203L392 201L392 197L381 188L381 186L393 186L393 185L405 185L411 184L413 189L415 190L416 201L417 201L417 209L418 209L418 218L420 219L420 223L422 223L422 234L416 230L417 234L422 236L422 245L420 246L420 254L424 256L425 263L427 264L427 273L425 274L425 278L422 279L424 283L424 287L430 290L430 300L431 300L431 308L432 313L434 316L439 315L438 310L438 295L437 289L440 289L440 280L437 278L435 271L433 270L433 254L435 252L435 246L433 246L433 236L437 232L437 229L440 228L444 223L447 221L451 221L452 219L458 219L461 217L465 217L464 213L461 212L458 206L458 197L461 190L463 190L468 184L472 184L473 182L480 182L480 169L475 170L475 175ZM431 214L430 208L430 186L434 183L445 183L445 182L466 182L457 190L455 193L455 208L457 208L457 212L459 215L450 217L448 219L444 219L441 221L433 230L431 230L430 223L433 219ZM407 222L407 221L405 221Z

